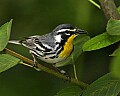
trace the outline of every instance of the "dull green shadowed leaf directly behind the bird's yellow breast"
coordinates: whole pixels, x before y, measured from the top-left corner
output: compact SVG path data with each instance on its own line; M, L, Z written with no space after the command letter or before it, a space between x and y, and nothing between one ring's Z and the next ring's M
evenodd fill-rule
M82 46L89 39L90 39L89 36L85 36L85 35L77 36L74 40L74 51L72 52L71 56L69 56L65 61L56 63L56 67L72 64L72 60L74 59L75 61L79 57L79 55L83 52Z

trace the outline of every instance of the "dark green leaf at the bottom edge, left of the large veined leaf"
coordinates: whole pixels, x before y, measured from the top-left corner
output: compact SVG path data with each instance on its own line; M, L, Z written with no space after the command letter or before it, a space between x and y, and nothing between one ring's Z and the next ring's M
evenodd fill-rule
M80 96L82 94L82 90L78 86L71 86L62 89L55 96Z

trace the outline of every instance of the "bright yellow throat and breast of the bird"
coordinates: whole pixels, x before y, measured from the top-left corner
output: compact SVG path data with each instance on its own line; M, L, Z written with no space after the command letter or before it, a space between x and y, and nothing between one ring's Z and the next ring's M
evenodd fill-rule
M72 50L73 50L73 40L74 38L76 37L77 35L72 35L68 38L68 40L65 42L65 45L64 45L64 50L59 54L59 57L60 58L67 58Z

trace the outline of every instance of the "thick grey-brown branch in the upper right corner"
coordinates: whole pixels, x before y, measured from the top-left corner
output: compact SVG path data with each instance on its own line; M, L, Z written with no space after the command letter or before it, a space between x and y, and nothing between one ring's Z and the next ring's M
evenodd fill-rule
M120 19L114 0L99 0L99 2L107 19Z

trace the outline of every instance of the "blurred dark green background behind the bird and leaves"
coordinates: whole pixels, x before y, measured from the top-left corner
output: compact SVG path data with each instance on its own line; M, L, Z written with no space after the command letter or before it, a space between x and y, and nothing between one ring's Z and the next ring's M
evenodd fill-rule
M120 5L120 1L116 0L116 4ZM62 23L71 23L87 30L90 37L93 37L104 32L107 23L102 11L88 0L0 0L0 25L10 19L13 19L10 39L49 33ZM83 53L77 64L79 79L92 83L109 72L109 54L116 47L115 44ZM24 47L8 44L7 48L32 59ZM62 69L71 75L73 73L72 65ZM37 72L23 65L0 73L0 96L53 96L70 85L51 74Z

